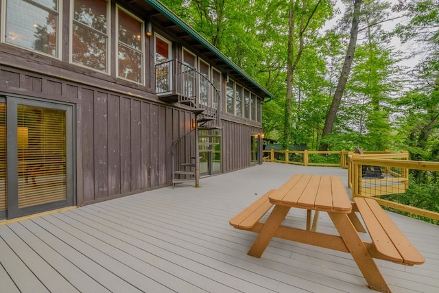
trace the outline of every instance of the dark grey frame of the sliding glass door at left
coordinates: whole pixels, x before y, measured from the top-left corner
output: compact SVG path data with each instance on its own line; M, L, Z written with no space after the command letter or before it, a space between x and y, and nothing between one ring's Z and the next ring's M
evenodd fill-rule
M4 97L6 97L4 99ZM7 198L8 209L6 216L8 219L68 207L75 204L75 165L74 165L74 145L75 145L75 109L73 105L67 103L49 102L42 99L27 99L11 95L2 95L0 102L6 103L6 176L7 176ZM54 110L64 110L66 115L66 196L65 200L38 204L31 207L19 208L19 166L18 166L18 136L17 136L17 109L19 105L48 108ZM2 217L0 213L0 217Z

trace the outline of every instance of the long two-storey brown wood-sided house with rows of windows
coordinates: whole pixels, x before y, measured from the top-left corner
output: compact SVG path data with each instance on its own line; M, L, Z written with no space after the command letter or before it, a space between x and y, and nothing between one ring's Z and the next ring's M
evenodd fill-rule
M272 95L160 2L0 3L0 219L261 163Z

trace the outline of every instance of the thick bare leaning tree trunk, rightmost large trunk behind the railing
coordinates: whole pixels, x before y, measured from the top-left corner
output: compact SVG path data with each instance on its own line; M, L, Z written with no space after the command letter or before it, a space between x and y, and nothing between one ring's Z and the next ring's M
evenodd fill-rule
M342 102L344 88L346 87L346 82L348 81L349 73L351 73L352 62L355 54L355 46L357 45L359 16L361 12L362 1L363 0L355 0L354 2L354 12L353 12L352 27L351 27L351 39L349 40L348 50L346 51L346 57L344 58L342 74L338 79L337 88L335 89L332 103L328 110L327 119L326 121L324 121L322 139L327 134L330 134L332 132L335 116L337 115L337 110L340 107L340 102ZM320 150L328 150L328 144L321 143Z

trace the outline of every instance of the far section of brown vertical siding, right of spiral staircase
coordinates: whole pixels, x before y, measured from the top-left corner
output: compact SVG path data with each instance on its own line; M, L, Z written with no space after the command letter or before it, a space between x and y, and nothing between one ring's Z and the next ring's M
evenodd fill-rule
M250 167L250 137L255 133L261 133L262 128L224 120L222 126L223 171L231 172Z

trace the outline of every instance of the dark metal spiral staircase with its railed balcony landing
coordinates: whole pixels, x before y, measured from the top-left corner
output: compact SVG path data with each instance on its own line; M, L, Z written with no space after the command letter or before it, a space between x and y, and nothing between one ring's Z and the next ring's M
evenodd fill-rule
M219 91L206 75L178 60L157 64L155 73L158 97L193 113L191 129L172 144L172 186L194 181L200 187L200 150L206 154L219 144Z

